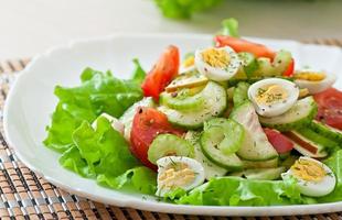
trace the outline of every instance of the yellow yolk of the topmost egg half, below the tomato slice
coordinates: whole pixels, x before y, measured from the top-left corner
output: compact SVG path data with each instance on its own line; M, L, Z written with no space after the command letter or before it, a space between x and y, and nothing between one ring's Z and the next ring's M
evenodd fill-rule
M224 50L209 48L202 52L203 61L212 67L224 68L231 62L229 54Z

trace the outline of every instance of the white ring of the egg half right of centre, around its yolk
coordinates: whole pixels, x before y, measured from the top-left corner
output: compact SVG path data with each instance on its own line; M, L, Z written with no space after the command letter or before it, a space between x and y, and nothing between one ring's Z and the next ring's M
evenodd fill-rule
M266 87L268 85L279 85L287 91L288 97L285 100L277 101L275 103L269 105L258 103L256 100L258 89ZM253 102L256 112L263 117L276 117L285 113L296 103L298 97L299 97L299 89L296 86L296 84L280 78L263 79L253 84L248 88L248 99Z

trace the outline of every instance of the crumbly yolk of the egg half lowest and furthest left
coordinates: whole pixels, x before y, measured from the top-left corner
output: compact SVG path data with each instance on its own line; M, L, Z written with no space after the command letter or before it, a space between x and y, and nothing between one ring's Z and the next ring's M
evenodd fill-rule
M174 189L194 182L195 173L184 163L172 164L158 177L161 188Z

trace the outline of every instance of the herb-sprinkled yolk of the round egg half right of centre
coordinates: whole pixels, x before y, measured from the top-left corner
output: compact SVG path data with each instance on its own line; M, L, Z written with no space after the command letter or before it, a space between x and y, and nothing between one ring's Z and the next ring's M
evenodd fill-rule
M281 101L288 97L287 90L279 85L270 85L268 87L259 88L256 96L256 101L259 105L269 105Z

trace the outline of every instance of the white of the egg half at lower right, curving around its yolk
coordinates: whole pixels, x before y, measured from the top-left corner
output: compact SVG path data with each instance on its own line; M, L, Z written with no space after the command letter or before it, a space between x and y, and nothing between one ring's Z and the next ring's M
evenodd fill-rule
M301 156L299 160L307 160L307 161L318 163L325 170L327 175L323 177L321 182L318 182L318 183L307 182L307 180L300 179L299 177L295 176L292 170L289 169L288 172L281 174L282 178L287 178L289 176L296 178L300 193L306 196L322 197L333 191L335 184L336 184L336 179L332 170L325 164L314 158L310 158L306 156Z

